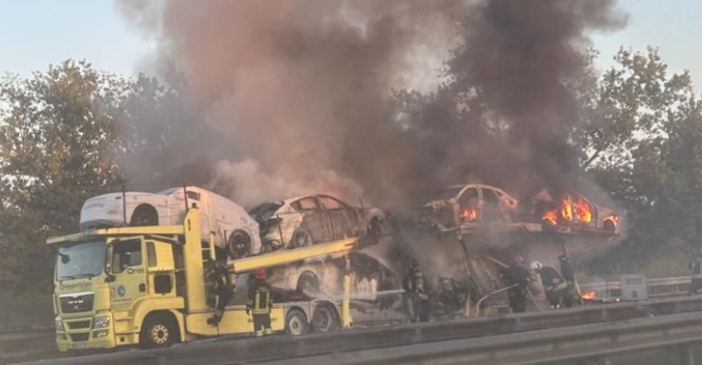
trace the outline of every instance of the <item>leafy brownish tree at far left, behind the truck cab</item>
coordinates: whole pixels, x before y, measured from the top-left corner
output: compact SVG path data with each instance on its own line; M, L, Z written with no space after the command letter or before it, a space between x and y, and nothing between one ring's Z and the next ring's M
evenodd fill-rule
M123 184L115 157L129 92L72 60L0 82L0 283L50 282L46 237L75 232L82 203Z

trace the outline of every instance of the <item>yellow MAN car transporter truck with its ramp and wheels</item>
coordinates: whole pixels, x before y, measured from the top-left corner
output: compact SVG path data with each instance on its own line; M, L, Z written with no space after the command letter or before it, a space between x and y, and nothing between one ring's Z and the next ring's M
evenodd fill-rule
M214 314L213 293L206 278L215 260L213 235L202 237L197 208L179 226L96 229L54 237L58 246L54 276L56 342L60 351L140 345L166 347L201 336L253 333L243 305L228 306L222 321ZM278 251L229 262L236 277L257 268L312 258L343 257L356 239ZM303 333L313 318L348 327L348 275L341 303L333 300L277 303L273 331Z

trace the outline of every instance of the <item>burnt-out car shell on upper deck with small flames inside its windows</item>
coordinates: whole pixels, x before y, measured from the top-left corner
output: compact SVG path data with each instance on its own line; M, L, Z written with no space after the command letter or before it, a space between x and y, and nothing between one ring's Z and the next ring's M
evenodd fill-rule
M475 223L511 223L516 220L518 205L517 199L501 189L468 184L437 191L420 210L424 223L446 229Z

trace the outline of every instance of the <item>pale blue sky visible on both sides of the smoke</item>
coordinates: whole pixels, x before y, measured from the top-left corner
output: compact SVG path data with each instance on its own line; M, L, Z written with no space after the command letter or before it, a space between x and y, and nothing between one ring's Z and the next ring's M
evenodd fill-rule
M622 46L645 51L651 45L660 49L672 72L690 70L696 89L702 90L702 1L619 4L630 22L623 30L593 34L598 67L610 67ZM111 0L0 0L0 75L26 76L68 58L136 75L154 47L153 40L128 27Z

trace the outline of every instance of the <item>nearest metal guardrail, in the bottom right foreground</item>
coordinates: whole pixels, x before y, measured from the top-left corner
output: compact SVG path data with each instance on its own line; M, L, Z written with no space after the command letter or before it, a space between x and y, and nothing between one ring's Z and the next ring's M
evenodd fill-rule
M267 365L538 365L581 363L631 352L678 348L694 364L691 345L702 342L702 313L599 323L478 339L423 343L392 349L324 354L265 362Z

